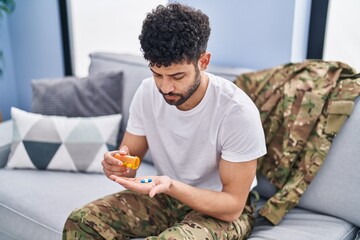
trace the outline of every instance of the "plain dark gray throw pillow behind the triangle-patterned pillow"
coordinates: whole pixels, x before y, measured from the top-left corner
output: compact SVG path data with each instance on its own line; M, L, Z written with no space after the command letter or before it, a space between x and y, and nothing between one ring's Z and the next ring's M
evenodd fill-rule
M66 117L95 117L122 112L123 73L101 72L88 77L36 79L32 112Z

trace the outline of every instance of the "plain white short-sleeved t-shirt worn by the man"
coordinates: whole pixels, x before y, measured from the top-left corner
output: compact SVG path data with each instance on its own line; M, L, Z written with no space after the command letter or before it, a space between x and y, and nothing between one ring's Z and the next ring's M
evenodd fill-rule
M244 162L266 153L259 111L234 83L207 73L201 102L181 111L165 102L153 78L130 106L127 131L146 136L158 174L220 191L219 161ZM256 186L256 178L252 187Z

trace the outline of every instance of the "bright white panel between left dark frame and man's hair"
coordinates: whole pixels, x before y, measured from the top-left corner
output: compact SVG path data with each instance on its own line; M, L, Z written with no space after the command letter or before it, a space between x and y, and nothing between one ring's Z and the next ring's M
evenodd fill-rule
M70 0L74 72L86 76L94 51L141 55L145 14L167 0Z

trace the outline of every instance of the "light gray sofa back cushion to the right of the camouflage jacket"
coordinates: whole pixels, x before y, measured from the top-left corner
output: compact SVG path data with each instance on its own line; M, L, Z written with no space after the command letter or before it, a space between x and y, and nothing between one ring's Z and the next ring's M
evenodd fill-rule
M360 97L299 206L360 226Z

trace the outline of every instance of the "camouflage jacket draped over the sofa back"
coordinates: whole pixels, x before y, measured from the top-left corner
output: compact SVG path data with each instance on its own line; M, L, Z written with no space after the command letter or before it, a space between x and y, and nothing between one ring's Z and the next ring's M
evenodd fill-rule
M260 110L268 153L258 172L278 192L259 214L278 224L298 204L351 114L360 76L341 62L308 60L246 73L235 84Z

